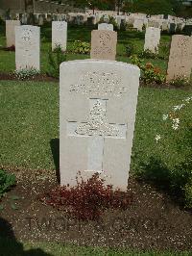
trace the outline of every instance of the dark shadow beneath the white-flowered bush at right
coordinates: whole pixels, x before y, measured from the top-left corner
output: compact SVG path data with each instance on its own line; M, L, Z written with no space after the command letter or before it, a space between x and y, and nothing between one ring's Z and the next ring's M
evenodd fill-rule
M186 207L186 194L184 188L190 185L192 158L185 158L179 165L168 167L159 158L151 157L149 163L141 163L141 169L137 172L137 179L153 185L158 191L165 192L173 202L190 212L191 206ZM190 199L189 195L189 200ZM190 203L189 203L190 204Z

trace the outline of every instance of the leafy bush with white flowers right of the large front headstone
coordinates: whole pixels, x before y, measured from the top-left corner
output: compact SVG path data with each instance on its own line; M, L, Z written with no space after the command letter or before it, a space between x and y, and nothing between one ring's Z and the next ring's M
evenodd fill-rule
M142 164L137 175L180 196L186 207L192 208L192 96L162 116L162 131L157 134L156 158ZM167 158L175 157L175 165L168 166ZM177 155L180 159L177 160ZM177 163L178 162L178 163Z

